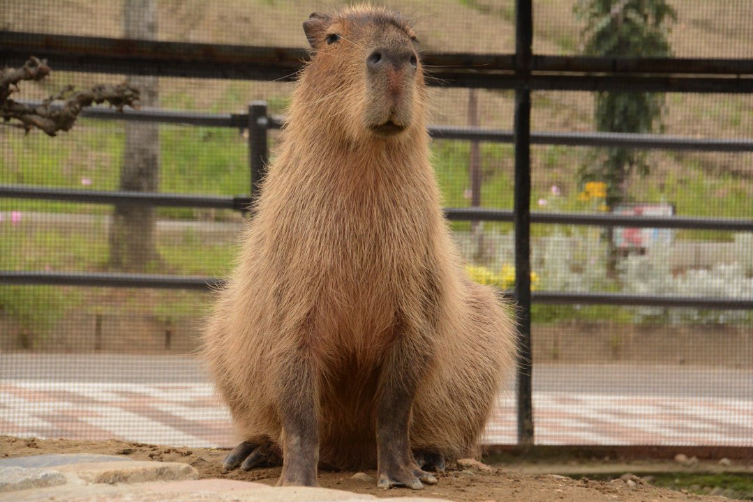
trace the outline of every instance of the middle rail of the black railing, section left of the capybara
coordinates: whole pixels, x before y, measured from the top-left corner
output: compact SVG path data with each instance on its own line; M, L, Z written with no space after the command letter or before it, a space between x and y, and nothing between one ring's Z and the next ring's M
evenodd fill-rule
M180 193L110 192L67 188L0 185L0 197L50 199L86 204L147 204L163 207L239 209L245 198L182 195ZM240 199L240 202L238 200Z

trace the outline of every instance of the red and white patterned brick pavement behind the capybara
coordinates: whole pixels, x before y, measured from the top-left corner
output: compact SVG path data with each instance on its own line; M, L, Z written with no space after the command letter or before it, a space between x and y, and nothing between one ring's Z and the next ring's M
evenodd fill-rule
M753 392L535 391L533 402L538 444L753 446ZM0 379L0 434L194 448L235 443L230 416L205 382ZM514 399L501 397L483 442L515 441Z

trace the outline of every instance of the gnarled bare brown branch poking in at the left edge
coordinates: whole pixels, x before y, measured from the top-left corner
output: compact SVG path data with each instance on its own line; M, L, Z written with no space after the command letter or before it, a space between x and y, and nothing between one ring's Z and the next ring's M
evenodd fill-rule
M29 132L41 129L47 135L54 136L58 131L68 131L73 127L76 117L84 107L93 103L99 105L108 102L123 111L124 106L138 108L139 90L127 84L97 85L90 90L74 91L68 86L55 96L45 99L41 105L30 106L10 99L18 91L20 81L41 81L50 73L50 67L44 59L32 58L22 68L6 68L0 71L0 117L5 122L18 120L18 126ZM65 100L62 106L52 106L55 100Z

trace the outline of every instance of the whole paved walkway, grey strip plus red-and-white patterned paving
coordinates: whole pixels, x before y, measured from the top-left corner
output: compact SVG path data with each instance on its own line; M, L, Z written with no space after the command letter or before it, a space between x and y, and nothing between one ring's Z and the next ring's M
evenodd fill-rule
M0 434L235 443L227 410L190 358L57 357L0 356ZM753 446L749 370L541 367L533 401L538 444ZM508 391L483 442L515 443L515 420Z

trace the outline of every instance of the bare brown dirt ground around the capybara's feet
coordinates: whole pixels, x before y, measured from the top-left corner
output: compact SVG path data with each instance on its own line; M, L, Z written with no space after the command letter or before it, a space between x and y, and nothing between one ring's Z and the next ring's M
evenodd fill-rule
M0 436L0 458L20 455L41 455L50 453L98 453L105 455L125 455L136 460L177 461L191 464L202 478L216 477L258 481L273 485L279 476L279 468L255 469L250 472L235 470L223 473L220 463L226 450L222 449L187 449L167 446L154 446L143 443L125 443L117 440L78 441L78 440L35 440ZM615 461L595 460L569 462L569 471L578 469L583 472L630 472L647 471L644 463L620 464ZM657 465L658 470L666 470L671 462ZM377 497L404 497L410 494L423 497L437 497L456 500L456 502L508 502L511 500L572 500L596 502L602 500L622 500L625 502L672 502L674 500L730 500L724 497L687 494L657 488L643 479L633 477L626 480L599 482L586 477L571 479L565 476L549 474L557 472L557 467L547 462L494 464L490 473L481 470L447 470L439 476L437 485L426 486L422 491L377 488L376 473L367 471L371 479L353 479L355 473L319 471L319 484L324 488L368 493ZM561 467L561 466L560 466ZM674 467L676 468L676 467Z

